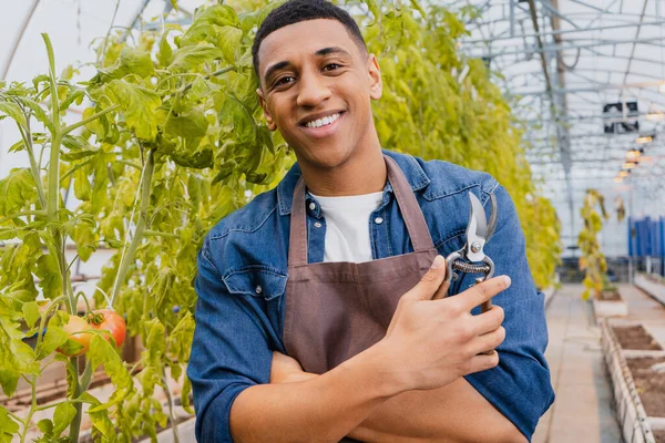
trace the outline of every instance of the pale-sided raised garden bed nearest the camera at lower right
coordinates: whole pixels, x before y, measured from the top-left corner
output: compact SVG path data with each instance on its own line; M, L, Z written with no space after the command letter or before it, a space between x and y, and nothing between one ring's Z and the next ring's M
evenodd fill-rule
M657 372L652 367L659 361L665 361L665 351L657 342L661 350L622 348L615 331L622 336L626 346L655 348L652 343L655 340L648 331L643 327L636 328L640 324L611 324L608 319L602 319L600 323L605 362L612 379L616 413L624 441L635 443L663 441L661 434L665 431L665 410L661 409L659 398L665 399L663 390L665 373Z

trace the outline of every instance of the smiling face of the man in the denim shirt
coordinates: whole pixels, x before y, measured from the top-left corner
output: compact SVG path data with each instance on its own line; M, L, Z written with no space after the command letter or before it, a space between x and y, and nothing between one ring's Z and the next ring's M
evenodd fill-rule
M378 144L371 99L381 96L376 58L337 20L289 24L258 51L257 90L272 131L278 130L310 168L332 168Z

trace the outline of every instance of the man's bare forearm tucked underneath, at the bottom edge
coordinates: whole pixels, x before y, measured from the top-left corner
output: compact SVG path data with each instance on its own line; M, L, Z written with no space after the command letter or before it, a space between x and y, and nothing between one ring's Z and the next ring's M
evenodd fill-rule
M365 442L526 442L464 379L430 391L396 395L349 435Z

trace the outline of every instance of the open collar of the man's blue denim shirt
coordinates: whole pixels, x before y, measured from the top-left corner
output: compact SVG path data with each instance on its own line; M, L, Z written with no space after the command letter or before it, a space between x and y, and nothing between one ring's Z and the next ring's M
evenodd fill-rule
M409 182L409 185L411 185L411 190L416 192L422 189L430 184L429 177L412 156L388 150L381 150L381 152L397 162L399 168L405 173L407 182ZM279 182L279 185L277 185L279 215L290 214L294 199L294 189L296 188L296 183L298 183L298 179L301 175L303 173L300 172L300 167L296 162L282 182ZM386 193L388 192L392 192L392 186L389 182L386 183L386 187L383 188L383 200L386 200ZM307 196L309 196L309 193L307 193Z

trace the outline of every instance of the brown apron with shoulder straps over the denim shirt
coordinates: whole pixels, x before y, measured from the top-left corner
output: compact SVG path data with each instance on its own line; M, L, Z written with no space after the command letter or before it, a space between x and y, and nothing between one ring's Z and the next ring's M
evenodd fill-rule
M437 256L416 196L388 157L392 185L413 253L365 262L307 264L305 182L294 190L288 247L284 342L307 372L324 373L386 336L400 297Z

